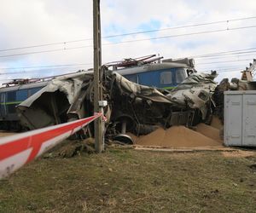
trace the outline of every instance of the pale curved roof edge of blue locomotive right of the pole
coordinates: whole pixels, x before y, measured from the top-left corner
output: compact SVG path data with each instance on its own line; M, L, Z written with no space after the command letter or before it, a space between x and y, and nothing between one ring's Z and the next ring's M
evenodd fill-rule
M155 70L164 70L170 68L193 68L188 66L184 63L177 63L177 62L162 62L162 63L155 63L155 64L147 64L143 66L134 66L131 68L124 68L116 70L115 72L119 72L121 75L131 75L141 72L150 72Z

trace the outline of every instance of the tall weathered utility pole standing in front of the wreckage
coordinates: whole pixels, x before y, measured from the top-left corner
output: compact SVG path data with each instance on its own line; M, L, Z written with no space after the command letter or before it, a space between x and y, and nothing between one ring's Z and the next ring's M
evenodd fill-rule
M100 0L93 0L93 47L94 47L94 112L100 112L102 108L102 37L101 37L101 13ZM95 147L97 153L102 153L103 145L103 121L102 117L95 120Z

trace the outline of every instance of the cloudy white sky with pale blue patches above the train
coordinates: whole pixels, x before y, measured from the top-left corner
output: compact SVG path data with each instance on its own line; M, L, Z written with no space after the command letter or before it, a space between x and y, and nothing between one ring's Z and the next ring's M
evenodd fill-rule
M0 3L0 83L12 78L39 78L92 67L92 0L0 0ZM151 54L178 58L256 48L256 27L253 27L256 18L234 21L256 16L255 0L102 0L101 10L103 63ZM221 20L230 21L162 31ZM245 26L250 27L234 30ZM225 31L227 28L230 30ZM160 31L108 37L148 30ZM223 31L209 33L218 30ZM172 37L175 35L183 36ZM155 37L167 38L150 40ZM134 40L143 41L131 42ZM16 49L48 43L59 44ZM15 50L2 51L4 49ZM52 52L35 53L48 50ZM248 53L241 55L196 58L195 66L199 72L220 69L218 81L240 78L239 70L256 58L256 49L246 51ZM86 65L16 69L74 64Z

